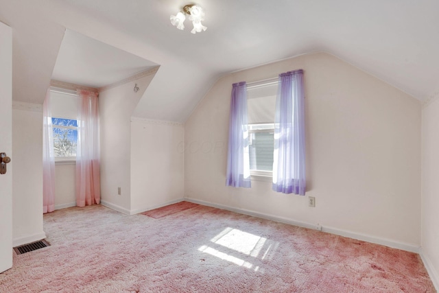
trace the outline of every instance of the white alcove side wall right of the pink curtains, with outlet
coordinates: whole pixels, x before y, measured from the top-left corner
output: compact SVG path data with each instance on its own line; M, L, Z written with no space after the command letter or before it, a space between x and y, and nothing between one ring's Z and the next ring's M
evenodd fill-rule
M131 210L131 115L152 78L146 75L99 93L101 200L123 213ZM136 83L139 91L134 93Z

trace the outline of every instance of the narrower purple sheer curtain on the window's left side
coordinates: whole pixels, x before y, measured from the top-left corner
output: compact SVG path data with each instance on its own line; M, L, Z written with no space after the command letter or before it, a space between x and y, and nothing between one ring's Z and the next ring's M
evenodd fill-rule
M247 84L233 84L228 125L226 185L251 187L248 159Z

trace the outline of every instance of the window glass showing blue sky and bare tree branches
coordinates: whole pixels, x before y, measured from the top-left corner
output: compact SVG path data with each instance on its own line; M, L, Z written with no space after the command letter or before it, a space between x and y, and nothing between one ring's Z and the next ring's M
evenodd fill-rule
M78 121L53 117L52 125L55 159L75 159L76 145L78 143Z

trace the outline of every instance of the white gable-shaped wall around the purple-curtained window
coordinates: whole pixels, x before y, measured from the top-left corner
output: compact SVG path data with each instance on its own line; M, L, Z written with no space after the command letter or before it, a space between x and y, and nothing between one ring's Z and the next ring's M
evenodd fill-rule
M234 82L304 69L307 196L270 182L226 187ZM420 102L329 54L309 54L224 76L185 124L185 196L416 250L420 246Z

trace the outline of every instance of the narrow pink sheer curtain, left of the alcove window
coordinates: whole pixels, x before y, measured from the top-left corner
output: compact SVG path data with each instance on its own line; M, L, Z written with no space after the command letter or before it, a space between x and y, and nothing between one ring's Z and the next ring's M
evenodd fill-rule
M54 132L50 111L50 91L43 103L43 213L55 210Z

